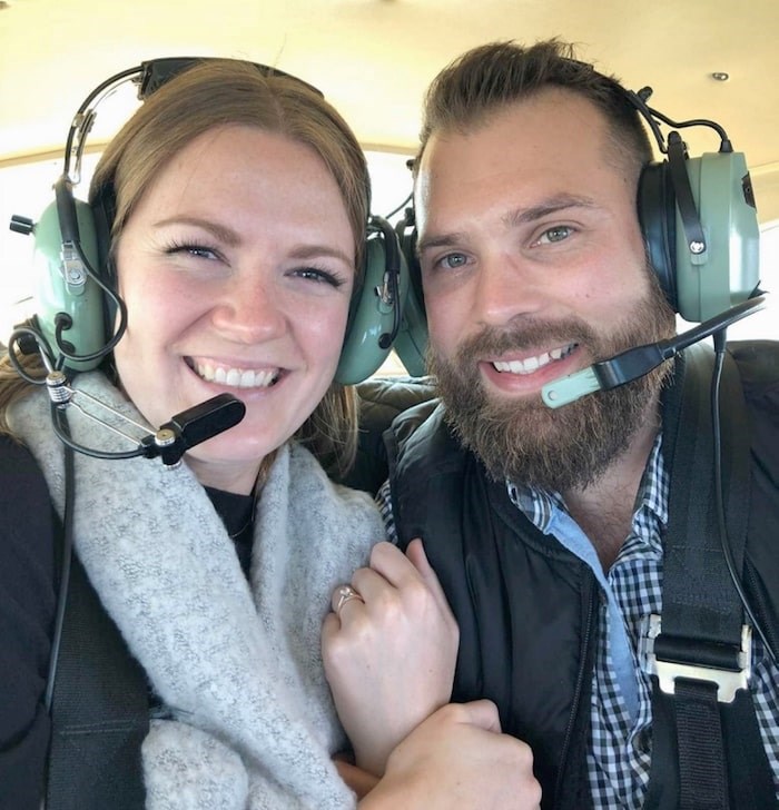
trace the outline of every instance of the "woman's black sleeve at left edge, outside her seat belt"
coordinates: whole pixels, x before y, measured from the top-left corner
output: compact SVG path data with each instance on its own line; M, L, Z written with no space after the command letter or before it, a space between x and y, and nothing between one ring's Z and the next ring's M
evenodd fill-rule
M0 435L0 804L19 810L40 807L43 792L55 525L34 460Z

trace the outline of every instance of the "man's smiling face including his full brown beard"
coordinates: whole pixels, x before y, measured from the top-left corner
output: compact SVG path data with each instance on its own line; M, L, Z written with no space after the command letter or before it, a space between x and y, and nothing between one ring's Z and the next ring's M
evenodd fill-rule
M662 374L559 411L541 401L545 384L673 332L635 184L602 113L562 89L425 148L416 208L432 371L496 477L586 485L657 406Z

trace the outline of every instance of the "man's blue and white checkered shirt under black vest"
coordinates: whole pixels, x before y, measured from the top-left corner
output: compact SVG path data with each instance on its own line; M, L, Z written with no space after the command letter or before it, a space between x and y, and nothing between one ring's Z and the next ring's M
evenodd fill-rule
M644 639L650 614L662 612L662 536L669 492L662 435L647 462L630 534L605 574L592 543L558 493L512 483L506 486L512 503L541 532L586 562L598 577L602 599L590 707L590 786L596 808L638 810L643 807L651 760L651 682ZM377 501L388 536L395 539L388 484ZM757 636L752 636L750 690L779 797L779 669Z

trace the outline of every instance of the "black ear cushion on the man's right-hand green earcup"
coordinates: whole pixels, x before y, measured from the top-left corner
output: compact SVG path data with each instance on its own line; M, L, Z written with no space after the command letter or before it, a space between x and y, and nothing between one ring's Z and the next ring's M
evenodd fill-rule
M637 205L649 260L673 312L679 312L676 195L667 161L644 166Z

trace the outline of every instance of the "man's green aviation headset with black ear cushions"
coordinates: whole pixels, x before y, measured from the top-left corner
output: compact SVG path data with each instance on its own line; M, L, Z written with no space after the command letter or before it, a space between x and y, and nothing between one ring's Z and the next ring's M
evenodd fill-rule
M647 105L651 88L633 92L602 78L638 111L665 156L643 167L637 206L649 259L673 310L704 322L758 294L760 231L743 154L714 121L673 121ZM709 127L720 137L719 151L691 158L679 132L664 138L661 124ZM413 209L398 231L411 281L395 348L412 371L423 363L427 339Z

